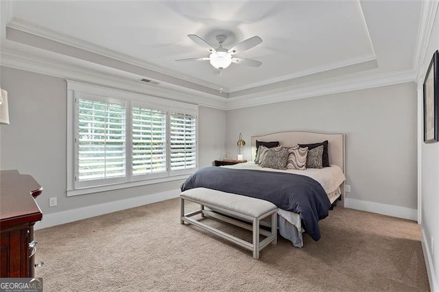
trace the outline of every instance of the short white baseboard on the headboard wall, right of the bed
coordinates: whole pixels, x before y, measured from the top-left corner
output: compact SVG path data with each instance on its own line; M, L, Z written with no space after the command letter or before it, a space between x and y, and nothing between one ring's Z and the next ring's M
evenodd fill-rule
M418 221L417 209L411 209L401 206L393 206L393 205L381 204L375 202L367 202L367 201L361 201L359 199L350 199L350 198L346 198L344 200L344 207Z

